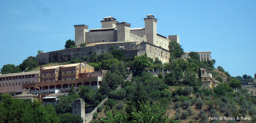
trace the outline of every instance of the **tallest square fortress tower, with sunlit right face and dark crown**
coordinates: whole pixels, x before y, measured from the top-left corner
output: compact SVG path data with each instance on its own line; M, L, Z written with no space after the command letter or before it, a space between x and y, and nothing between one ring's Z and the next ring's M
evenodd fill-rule
M147 35L147 42L150 44L157 43L157 18L154 15L147 15L144 18L145 35Z

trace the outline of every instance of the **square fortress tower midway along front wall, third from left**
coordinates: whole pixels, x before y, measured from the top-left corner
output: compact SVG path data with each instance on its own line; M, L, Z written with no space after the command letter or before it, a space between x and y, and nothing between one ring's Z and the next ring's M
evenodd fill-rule
M126 22L117 23L117 41L130 40L130 26L131 26L131 23L126 23Z

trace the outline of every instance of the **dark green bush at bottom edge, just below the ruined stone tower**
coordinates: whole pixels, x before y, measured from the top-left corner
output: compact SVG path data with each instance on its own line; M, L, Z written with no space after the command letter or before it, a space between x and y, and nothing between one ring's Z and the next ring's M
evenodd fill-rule
M59 114L60 123L83 123L83 119L79 115L72 113Z

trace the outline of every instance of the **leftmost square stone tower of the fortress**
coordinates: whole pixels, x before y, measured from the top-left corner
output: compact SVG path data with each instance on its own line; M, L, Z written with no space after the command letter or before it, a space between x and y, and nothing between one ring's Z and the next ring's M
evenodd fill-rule
M88 32L87 25L74 25L75 27L75 45L79 46L85 43L85 32Z

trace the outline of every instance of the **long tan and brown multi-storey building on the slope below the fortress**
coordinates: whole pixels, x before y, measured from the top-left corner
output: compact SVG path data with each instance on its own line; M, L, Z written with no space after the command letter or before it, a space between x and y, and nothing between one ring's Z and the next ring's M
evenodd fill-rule
M0 75L0 92L24 91L32 94L68 92L74 85L99 88L107 70L94 71L86 63L43 67L40 71Z

